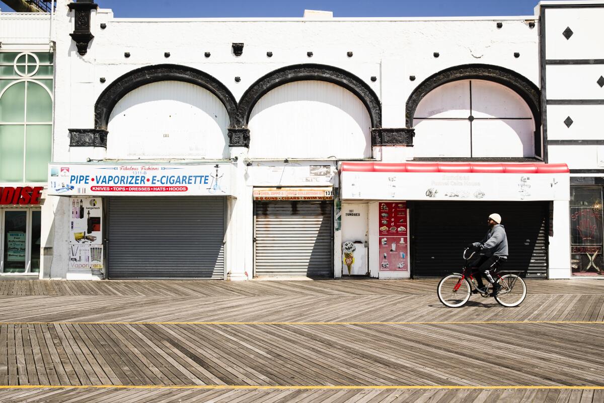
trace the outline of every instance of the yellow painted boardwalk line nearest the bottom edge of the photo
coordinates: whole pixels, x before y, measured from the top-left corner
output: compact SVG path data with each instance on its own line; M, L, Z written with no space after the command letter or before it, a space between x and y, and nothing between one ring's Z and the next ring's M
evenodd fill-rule
M264 389L264 390L316 390L316 389L574 389L574 390L604 390L604 386L568 386L568 385L495 385L495 386L463 386L463 385L0 385L0 389L87 389L87 388L116 388L116 389Z

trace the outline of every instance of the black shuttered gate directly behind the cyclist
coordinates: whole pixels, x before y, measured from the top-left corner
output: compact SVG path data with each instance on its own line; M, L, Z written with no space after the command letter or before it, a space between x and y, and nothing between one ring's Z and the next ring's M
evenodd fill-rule
M547 278L548 202L417 202L411 210L414 277L441 277L463 266L468 243L480 242L491 213L506 228L509 270Z

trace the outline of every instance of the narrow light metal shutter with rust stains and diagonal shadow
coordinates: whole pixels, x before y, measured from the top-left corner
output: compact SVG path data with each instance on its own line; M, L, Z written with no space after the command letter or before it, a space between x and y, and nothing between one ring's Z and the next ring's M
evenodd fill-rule
M254 202L254 276L333 276L332 206Z

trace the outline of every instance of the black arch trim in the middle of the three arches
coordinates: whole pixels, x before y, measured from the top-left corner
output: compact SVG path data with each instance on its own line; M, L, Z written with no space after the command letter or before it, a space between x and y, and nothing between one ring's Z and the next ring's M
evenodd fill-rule
M237 110L239 127L247 126L249 115L262 95L280 85L304 80L326 81L349 90L367 108L371 118L371 126L374 128L382 127L382 103L367 83L343 69L309 63L276 69L253 83L239 100L239 108Z

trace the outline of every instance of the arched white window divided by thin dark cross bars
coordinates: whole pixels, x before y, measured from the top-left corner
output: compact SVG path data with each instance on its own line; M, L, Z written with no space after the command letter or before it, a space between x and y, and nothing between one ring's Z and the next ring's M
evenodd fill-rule
M435 88L413 117L414 155L429 158L535 156L535 120L516 92L486 80Z

